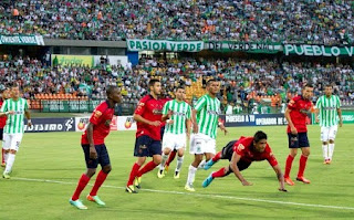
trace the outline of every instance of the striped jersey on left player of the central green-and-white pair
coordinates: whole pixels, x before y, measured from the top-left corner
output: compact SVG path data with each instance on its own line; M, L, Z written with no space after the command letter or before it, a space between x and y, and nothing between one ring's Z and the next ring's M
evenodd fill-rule
M178 102L176 99L168 101L163 108L163 114L167 115L168 111L173 111L174 115L170 119L174 124L166 124L165 133L170 133L175 135L186 133L186 119L191 117L191 108L186 102Z

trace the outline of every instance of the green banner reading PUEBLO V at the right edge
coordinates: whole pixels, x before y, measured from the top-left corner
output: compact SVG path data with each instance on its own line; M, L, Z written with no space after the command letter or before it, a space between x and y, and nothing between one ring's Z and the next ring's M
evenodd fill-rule
M295 45L284 44L285 55L308 55L308 56L353 56L354 46L325 46L325 45Z

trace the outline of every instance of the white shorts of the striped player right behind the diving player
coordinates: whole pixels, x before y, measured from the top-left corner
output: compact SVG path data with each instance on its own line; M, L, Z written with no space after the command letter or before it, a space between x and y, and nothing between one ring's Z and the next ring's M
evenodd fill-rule
M191 134L189 154L202 155L206 153L216 154L216 140L205 134Z

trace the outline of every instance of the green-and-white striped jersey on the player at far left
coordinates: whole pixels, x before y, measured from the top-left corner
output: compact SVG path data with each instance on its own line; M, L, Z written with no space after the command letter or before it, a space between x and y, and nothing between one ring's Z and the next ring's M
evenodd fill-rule
M12 98L6 99L1 106L0 112L13 111L13 115L8 115L7 124L3 127L6 134L19 134L23 133L23 116L24 111L29 108L27 99L20 97L18 101Z

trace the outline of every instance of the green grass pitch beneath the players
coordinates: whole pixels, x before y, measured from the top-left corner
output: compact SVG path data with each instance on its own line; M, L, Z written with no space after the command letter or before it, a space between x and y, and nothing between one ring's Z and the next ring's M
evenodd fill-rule
M106 139L113 170L98 191L106 207L100 208L85 199L94 176L81 195L88 210L69 205L85 171L81 133L25 134L11 179L0 180L0 219L350 219L354 217L353 128L353 125L339 128L333 163L323 165L320 127L309 126L311 155L305 177L311 185L295 181L295 186L287 186L288 193L278 191L275 174L267 161L253 163L242 171L253 184L251 187L241 186L231 174L204 189L202 180L210 171L227 165L225 160L208 171L198 170L196 192L187 192L184 186L192 159L189 154L185 156L180 179L173 178L174 160L165 178L158 179L155 169L143 176L139 193L126 193L124 187L135 161L135 133L113 132ZM283 170L289 153L284 126L229 128L227 136L219 133L218 150L229 140L251 136L258 129L269 135L269 144ZM299 158L300 151L291 171L293 180Z

